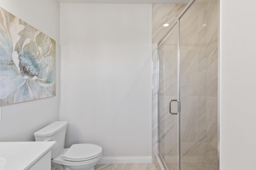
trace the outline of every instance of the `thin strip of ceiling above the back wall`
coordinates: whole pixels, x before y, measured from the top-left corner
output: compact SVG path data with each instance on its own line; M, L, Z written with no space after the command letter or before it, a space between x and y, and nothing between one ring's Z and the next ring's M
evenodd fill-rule
M190 0L59 0L61 3L95 4L188 4Z

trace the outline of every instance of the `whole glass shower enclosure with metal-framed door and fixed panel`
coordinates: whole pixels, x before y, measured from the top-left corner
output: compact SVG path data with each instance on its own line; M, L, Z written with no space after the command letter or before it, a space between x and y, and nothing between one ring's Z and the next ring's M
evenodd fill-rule
M192 0L157 44L158 156L218 170L218 0Z

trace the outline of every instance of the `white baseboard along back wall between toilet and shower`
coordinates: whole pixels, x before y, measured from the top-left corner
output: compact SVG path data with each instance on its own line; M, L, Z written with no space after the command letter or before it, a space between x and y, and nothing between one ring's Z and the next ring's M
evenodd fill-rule
M102 157L98 164L137 164L152 163L152 156L116 156Z

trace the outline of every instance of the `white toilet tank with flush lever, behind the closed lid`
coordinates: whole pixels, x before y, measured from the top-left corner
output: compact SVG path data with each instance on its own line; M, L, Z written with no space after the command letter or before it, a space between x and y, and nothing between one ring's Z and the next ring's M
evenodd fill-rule
M56 141L51 149L51 158L54 158L64 149L67 121L54 122L37 132L34 132L36 141Z

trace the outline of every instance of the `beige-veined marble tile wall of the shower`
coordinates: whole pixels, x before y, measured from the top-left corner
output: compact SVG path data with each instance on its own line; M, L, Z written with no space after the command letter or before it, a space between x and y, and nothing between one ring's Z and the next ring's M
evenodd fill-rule
M157 153L157 46L185 5L152 5L152 155ZM218 2L197 0L181 20L181 155L206 156L217 166ZM171 22L170 22L171 21ZM168 113L176 99L177 28L160 45L160 152L177 156L177 119Z

